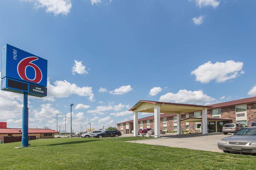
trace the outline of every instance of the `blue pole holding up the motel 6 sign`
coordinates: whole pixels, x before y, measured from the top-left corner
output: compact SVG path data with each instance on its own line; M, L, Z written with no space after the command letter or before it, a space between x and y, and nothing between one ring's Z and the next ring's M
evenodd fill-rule
M28 92L23 95L21 146L28 147Z

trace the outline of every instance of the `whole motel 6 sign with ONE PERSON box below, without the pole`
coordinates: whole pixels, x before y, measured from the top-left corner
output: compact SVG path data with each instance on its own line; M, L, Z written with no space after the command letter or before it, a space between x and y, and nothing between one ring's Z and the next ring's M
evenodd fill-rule
M6 44L2 48L1 90L47 96L47 60Z

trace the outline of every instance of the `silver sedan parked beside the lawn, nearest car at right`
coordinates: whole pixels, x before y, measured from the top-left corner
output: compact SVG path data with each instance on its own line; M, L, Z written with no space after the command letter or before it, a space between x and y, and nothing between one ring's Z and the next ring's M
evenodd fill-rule
M225 153L256 153L256 127L245 127L234 135L221 139L218 148Z

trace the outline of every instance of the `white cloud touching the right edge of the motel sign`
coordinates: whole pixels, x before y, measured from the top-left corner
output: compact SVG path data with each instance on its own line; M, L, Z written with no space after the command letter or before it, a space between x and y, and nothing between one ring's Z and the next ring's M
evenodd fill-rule
M54 98L69 97L72 94L79 96L88 96L87 99L94 101L94 94L92 87L79 87L76 84L71 84L66 80L58 80L54 82L54 85L50 84L49 78L47 79L47 97L42 98L43 100L54 101Z

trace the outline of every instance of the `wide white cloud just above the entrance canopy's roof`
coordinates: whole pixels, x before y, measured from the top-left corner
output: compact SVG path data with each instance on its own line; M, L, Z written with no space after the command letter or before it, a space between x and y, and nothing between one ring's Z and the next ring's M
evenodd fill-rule
M159 101L163 102L175 102L175 103L187 103L187 104L205 104L216 100L213 97L207 96L202 90L199 91L187 91L179 90L178 93L166 93L159 98Z

